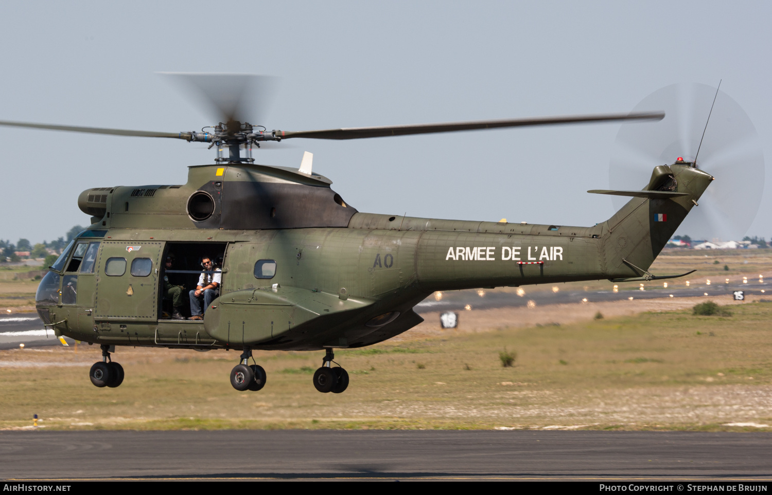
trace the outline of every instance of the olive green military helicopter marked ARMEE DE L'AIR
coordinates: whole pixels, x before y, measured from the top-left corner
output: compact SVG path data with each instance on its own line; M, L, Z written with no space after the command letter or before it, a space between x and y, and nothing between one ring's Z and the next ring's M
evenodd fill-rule
M373 345L418 325L423 318L413 308L435 291L692 273L657 276L648 268L714 179L696 159L655 167L642 190L588 191L629 200L606 221L572 227L363 213L313 171L311 153L297 169L252 157L263 143L296 138L655 121L662 112L267 130L249 123L243 109L242 89L256 76L184 77L218 109L218 124L160 133L0 121L216 147L215 163L188 167L185 184L92 187L78 197L90 226L49 267L36 309L57 336L100 345L102 360L89 372L97 387L120 386L124 369L111 353L131 345L241 351L230 372L239 391L266 385L254 349L323 350L313 386L340 393L349 376L334 349ZM196 305L204 306L199 315Z

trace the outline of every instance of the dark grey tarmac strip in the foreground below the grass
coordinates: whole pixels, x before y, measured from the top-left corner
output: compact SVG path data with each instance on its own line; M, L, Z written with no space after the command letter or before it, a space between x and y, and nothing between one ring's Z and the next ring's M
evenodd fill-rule
M772 480L772 433L0 432L10 479Z

